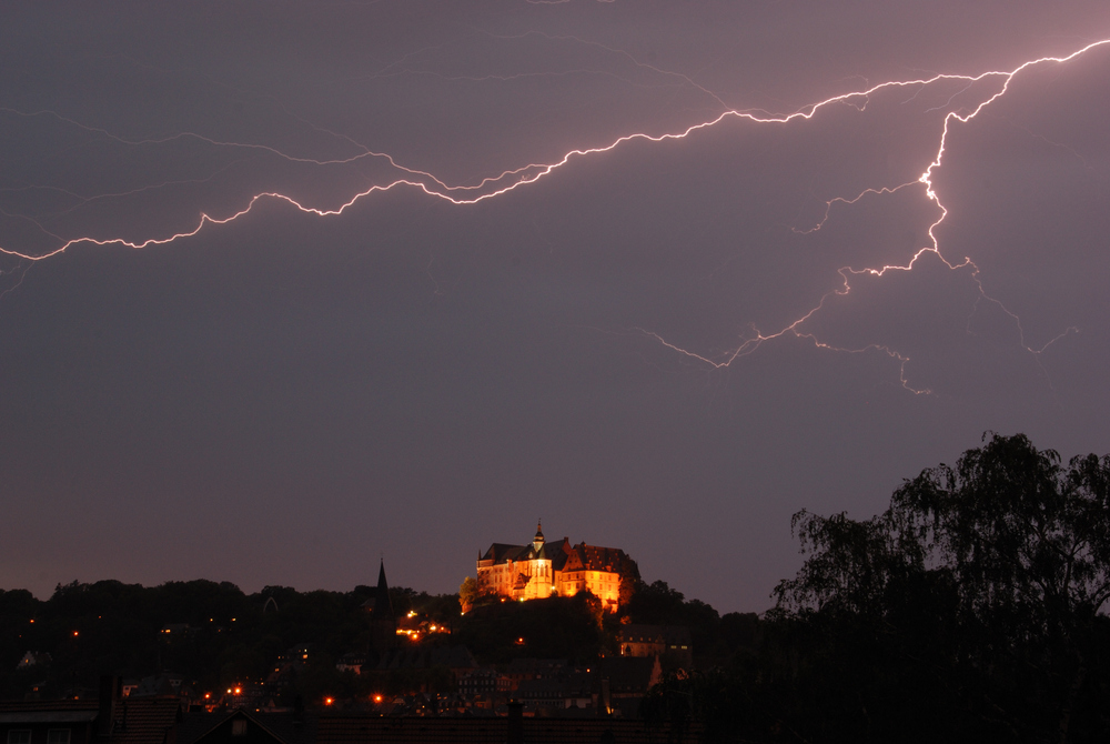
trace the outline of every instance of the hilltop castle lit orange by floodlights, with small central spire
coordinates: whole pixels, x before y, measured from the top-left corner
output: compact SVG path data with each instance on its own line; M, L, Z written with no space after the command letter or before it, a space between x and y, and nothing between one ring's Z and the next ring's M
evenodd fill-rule
M609 612L632 596L639 579L636 562L617 547L598 547L567 537L546 542L541 525L527 545L494 543L477 565L477 589L513 600L542 600L591 592Z

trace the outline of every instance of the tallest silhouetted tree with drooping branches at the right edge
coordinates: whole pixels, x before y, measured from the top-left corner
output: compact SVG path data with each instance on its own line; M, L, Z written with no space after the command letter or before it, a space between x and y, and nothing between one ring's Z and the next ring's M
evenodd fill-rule
M905 484L891 513L959 587L983 640L1007 639L1022 677L1053 700L1067 741L1110 600L1110 455L1072 458L993 435Z

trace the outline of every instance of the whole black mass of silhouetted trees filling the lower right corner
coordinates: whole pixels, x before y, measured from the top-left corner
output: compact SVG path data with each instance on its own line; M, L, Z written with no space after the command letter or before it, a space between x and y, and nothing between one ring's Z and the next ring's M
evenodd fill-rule
M992 435L866 521L794 517L807 560L751 653L645 713L707 742L1110 741L1110 456Z

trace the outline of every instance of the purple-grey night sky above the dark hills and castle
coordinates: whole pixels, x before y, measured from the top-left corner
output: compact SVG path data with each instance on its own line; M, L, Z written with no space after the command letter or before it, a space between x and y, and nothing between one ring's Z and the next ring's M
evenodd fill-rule
M452 592L543 517L759 612L800 509L987 430L1110 452L1103 39L1104 0L4 3L0 587Z

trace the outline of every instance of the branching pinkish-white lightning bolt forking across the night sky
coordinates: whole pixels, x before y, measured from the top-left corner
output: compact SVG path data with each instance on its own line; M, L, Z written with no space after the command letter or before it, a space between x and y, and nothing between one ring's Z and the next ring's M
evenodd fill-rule
M537 0L529 0L529 1L535 2ZM541 34L541 36L546 36L546 34ZM125 147L138 148L148 145L161 145L180 140L192 140L202 142L212 148L239 150L243 152L255 152L265 157L279 158L291 163L329 168L329 167L350 165L356 162L367 161L367 162L380 163L382 167L392 172L391 177L382 180L381 182L370 183L369 185L366 185L366 188L355 191L354 193L350 194L344 201L341 201L337 204L332 204L332 205L313 204L313 203L307 203L304 200L295 199L286 193L282 193L279 191L261 191L254 193L253 195L248 198L245 202L242 203L240 207L229 212L222 214L211 214L209 212L201 212L196 218L196 220L190 225L183 227L176 231L172 231L162 235L153 235L142 239L125 239L122 237L98 237L91 234L64 238L48 230L42 224L42 221L39 218L24 214L0 212L0 214L3 214L4 217L18 218L31 222L43 234L56 241L53 248L38 252L30 250L21 250L8 245L0 245L0 254L33 264L57 257L60 253L64 253L69 249L81 244L91 244L101 247L121 245L135 250L145 249L154 245L165 245L196 235L201 231L210 227L228 224L230 222L233 222L249 214L255 208L255 205L258 205L260 202L263 201L282 202L287 204L289 207L292 207L296 211L320 218L341 215L349 208L351 208L353 204L360 202L363 199L398 189L414 190L432 199L442 200L458 207L473 205L486 200L497 199L512 191L526 188L529 184L541 181L545 177L554 173L555 171L568 167L575 161L610 152L630 142L644 141L644 142L659 143L672 140L682 140L690 137L695 132L714 128L720 124L723 121L731 119L744 120L750 122L754 125L785 127L789 125L791 122L814 119L819 113L834 105L849 105L858 110L865 110L870 99L884 91L892 91L899 89L911 91L911 95L908 99L906 99L906 101L908 102L914 98L916 98L917 95L919 95L921 91L924 91L926 88L930 86L937 83L952 82L959 86L956 92L953 92L942 105L929 109L929 111L945 110L945 109L951 109L951 110L949 110L942 119L942 124L939 129L939 137L932 160L929 162L928 167L916 180L894 185L868 188L856 193L855 195L836 197L834 199L827 200L825 204L824 215L820 218L820 220L817 221L816 224L807 229L799 229L793 227L790 228L794 232L798 234L811 234L821 230L823 227L825 227L825 224L827 223L828 219L830 218L831 213L835 210L849 208L854 204L857 204L860 200L866 198L882 198L905 190L917 189L921 191L921 194L926 200L928 200L936 207L936 209L938 210L938 217L931 222L931 224L927 230L928 243L925 247L917 250L909 259L909 261L907 261L904 264L888 264L881 267L864 267L864 268L842 267L838 270L840 278L842 280L841 284L838 288L823 295L819 302L816 305L814 305L810 310L797 316L795 320L793 320L785 326L774 331L760 331L755 326L753 326L750 335L744 338L738 345L736 345L727 353L724 353L716 358L710 358L706 354L699 354L695 351L684 348L678 343L668 341L663 335L646 329L635 329L635 331L637 333L643 334L646 338L652 339L654 342L658 343L663 348L673 351L674 353L680 355L684 359L705 365L707 369L716 369L716 370L729 368L737 360L755 353L765 343L775 341L777 339L783 339L785 336L795 336L798 339L803 339L813 343L814 346L818 349L828 351L845 352L845 353L879 352L886 354L887 356L889 356L890 359L895 360L898 363L900 370L899 373L900 383L906 390L916 394L928 394L931 392L930 390L918 389L910 384L907 376L907 364L910 362L910 359L904 353L899 352L898 350L884 344L867 344L858 348L836 346L821 341L819 338L817 338L815 333L807 331L805 329L805 325L817 313L819 313L823 309L825 309L829 302L831 302L836 298L842 298L850 294L852 292L854 278L862 275L881 278L888 274L889 272L911 271L915 264L924 255L932 254L934 257L939 259L942 262L942 264L947 267L948 270L950 271L969 272L979 293L979 298L976 302L976 309L972 310L972 314L981 303L989 303L999 308L1016 323L1020 334L1020 344L1022 349L1029 354L1033 355L1035 358L1039 358L1040 354L1042 354L1046 349L1051 346L1060 339L1067 336L1070 333L1078 332L1078 329L1068 328L1064 329L1062 332L1060 332L1057 336L1051 339L1047 344L1040 348L1031 346L1026 340L1026 332L1021 326L1020 318L1016 313L1010 311L1008 308L1006 308L999 300L991 296L987 292L980 278L979 267L977 267L969 257L963 257L960 260L950 260L942 254L940 248L940 241L937 238L936 231L948 217L948 209L941 201L940 195L936 190L934 178L936 172L942 167L947 152L948 139L953 128L958 124L967 124L972 119L978 117L985 109L987 109L993 102L998 101L1003 95L1006 95L1010 90L1011 82L1023 71L1029 70L1035 66L1067 63L1094 49L1110 44L1110 39L1104 39L1088 43L1087 46L1077 49L1070 54L1063 57L1040 57L1037 59L1031 59L1011 70L991 70L987 72L980 72L975 76L938 73L938 74L932 74L931 77L921 77L918 79L887 81L869 86L859 90L854 90L850 92L834 95L825 100L804 105L789 113L774 114L758 109L740 110L736 108L730 108L722 100L719 95L717 95L710 90L707 90L703 86L696 83L689 77L684 76L682 73L669 72L667 70L663 70L653 66L642 63L635 58L633 58L630 54L627 54L626 52L623 52L620 50L615 50L608 47L604 47L602 44L596 44L595 42L584 41L575 37L546 37L546 38L559 41L573 41L575 43L595 46L601 49L607 50L608 52L612 53L624 54L633 64L639 68L649 69L656 73L660 73L664 76L673 76L676 79L678 79L683 84L694 87L695 89L709 95L716 104L723 108L723 110L715 113L715 115L706 118L688 127L682 128L677 131L665 132L662 134L653 134L648 132L633 132L617 137L607 143L599 144L596 147L583 147L568 150L562 157L556 158L548 162L532 162L524 165L518 165L516 168L503 170L501 173L494 175L487 175L485 178L475 179L471 182L451 183L446 179L433 174L431 171L407 167L386 152L375 151L370 147L360 143L345 134L337 134L331 130L313 124L312 122L301 117L295 117L295 118L299 119L301 122L314 128L317 131L325 132L327 134L344 140L355 149L355 152L353 154L344 157L335 157L335 158L310 158L305 154L286 152L280 148L269 144L222 140L196 132L172 132L161 137L133 139L115 134L104 128L92 127L82 123L75 119L64 117L52 110L21 111L11 108L0 108L0 113L13 117L51 118L65 125L73 127L81 131L84 131L90 135L102 138ZM417 53L420 52L413 52L413 54ZM413 54L406 56L405 59L412 57ZM401 64L403 64L403 60L397 63L390 64L386 68L383 68L381 71L375 73L374 77L413 72L411 70L401 67ZM561 74L568 74L572 72L577 73L582 72L582 70L567 71ZM435 73L427 73L427 74L435 74ZM485 78L475 78L475 79L505 80L509 77L521 77L521 76L487 76ZM956 101L960 99L960 97L968 95L970 91L977 86L987 83L993 84L995 90L992 93L982 97L981 100L979 100L979 102L973 107L970 108L956 107ZM286 113L289 113L287 110ZM225 165L224 168L230 168L230 167L231 164ZM220 171L213 172L206 179L196 179L188 182L191 183L204 182L206 180L210 180L211 178L215 178L215 175L219 172ZM68 193L74 199L79 200L79 204L72 208L77 209L81 204L88 203L93 200L122 198L141 191L149 191L159 188L164 188L172 183L179 183L179 182L167 181L160 184L151 184L135 190L121 191L112 194L100 194L97 197L85 197L74 192L68 192ZM67 211L72 211L72 209ZM971 332L970 318L968 322L969 322L968 332L970 333ZM1038 364L1040 362L1038 360ZM1043 371L1043 368L1041 369Z

